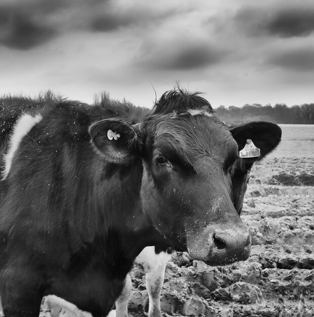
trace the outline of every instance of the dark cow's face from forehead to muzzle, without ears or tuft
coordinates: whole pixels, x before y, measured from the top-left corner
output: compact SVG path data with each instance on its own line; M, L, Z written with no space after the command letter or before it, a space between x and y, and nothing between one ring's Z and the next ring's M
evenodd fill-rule
M195 259L246 259L249 231L232 204L237 142L217 117L192 114L142 123L144 211L167 242Z

